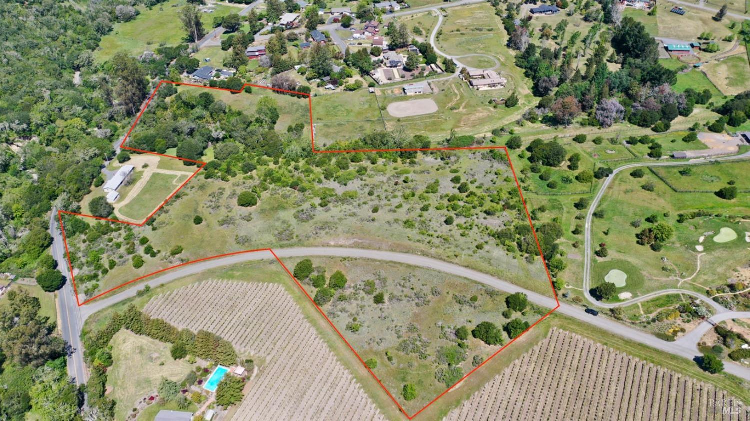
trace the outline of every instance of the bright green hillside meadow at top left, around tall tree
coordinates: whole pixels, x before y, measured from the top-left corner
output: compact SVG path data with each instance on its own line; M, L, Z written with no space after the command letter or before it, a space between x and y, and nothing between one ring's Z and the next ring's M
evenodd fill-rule
M179 16L185 0L169 0L154 8L139 6L136 19L127 23L117 23L113 31L101 39L95 53L98 62L106 62L115 53L124 52L130 56L140 56L144 51L155 51L160 46L174 47L185 43L186 32ZM217 5L211 14L202 14L205 32L213 29L214 17L239 13L239 8Z

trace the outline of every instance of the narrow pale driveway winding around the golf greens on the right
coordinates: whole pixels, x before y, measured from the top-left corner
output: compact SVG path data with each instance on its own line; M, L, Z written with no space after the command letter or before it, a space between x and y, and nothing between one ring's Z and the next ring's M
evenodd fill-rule
M604 179L604 184L601 185L601 188L599 189L598 193L596 194L596 197L594 197L593 202L591 203L591 206L589 207L589 212L586 214L586 233L585 233L585 253L583 256L583 293L586 296L586 299L589 300L593 305L597 305L599 307L604 308L613 308L613 307L622 307L624 305L630 305L634 304L636 302L642 301L646 296L636 298L636 299L630 299L628 301L619 302L616 304L607 304L604 302L598 302L593 296L591 296L591 293L589 293L589 290L591 289L591 260L592 260L592 240L591 240L591 230L592 230L592 220L594 216L594 212L596 211L596 207L599 205L599 202L601 202L601 198L604 197L604 193L607 192L607 187L609 187L610 184L612 184L612 180L617 176L617 174L621 173L624 170L631 170L632 168L637 167L675 167L675 166L685 166L685 165L697 165L697 164L706 164L706 162L712 162L712 161L735 161L739 159L748 159L750 158L750 152L746 152L742 155L735 155L735 156L726 156L723 158L711 158L711 159L701 159L701 160L694 160L689 162L682 162L682 161L655 161L655 162L640 162L637 164L629 164L629 165L623 165L622 167L617 168L613 171L612 175ZM717 309L717 311L720 312L727 312L726 308L722 307L721 305L718 305L718 303L713 302L712 299L709 299L709 297L704 296L699 293L694 293L693 291L689 290L665 290L665 291L658 291L656 293L649 294L647 297L653 298L654 296L660 296L668 293L685 293L691 296L695 296L697 298L703 299L705 302L710 302L710 305L712 305L713 308Z

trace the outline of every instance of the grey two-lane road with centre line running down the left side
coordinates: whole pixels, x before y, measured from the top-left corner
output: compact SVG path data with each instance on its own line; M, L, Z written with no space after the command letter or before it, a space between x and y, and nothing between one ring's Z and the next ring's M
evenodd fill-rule
M60 330L62 338L73 349L73 353L68 356L68 374L80 386L89 380L89 371L86 370L86 364L83 363L83 345L81 344L83 318L73 290L73 282L70 281L71 274L68 270L68 259L65 257L65 244L62 242L62 233L57 228L57 218L57 209L52 208L52 215L49 217L49 233L52 235L53 241L52 257L57 262L57 268L68 279L62 290L58 292Z

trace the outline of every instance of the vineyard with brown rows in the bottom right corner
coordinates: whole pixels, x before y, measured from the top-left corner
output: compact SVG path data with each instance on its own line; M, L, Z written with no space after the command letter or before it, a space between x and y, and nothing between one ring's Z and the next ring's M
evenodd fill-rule
M747 420L750 408L713 386L553 329L444 421L490 419Z

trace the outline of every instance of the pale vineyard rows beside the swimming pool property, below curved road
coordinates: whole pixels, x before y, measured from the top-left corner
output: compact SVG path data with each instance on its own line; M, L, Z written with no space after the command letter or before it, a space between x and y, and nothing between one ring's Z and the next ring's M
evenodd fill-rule
M155 297L145 312L265 360L236 421L384 419L280 284L204 281Z

